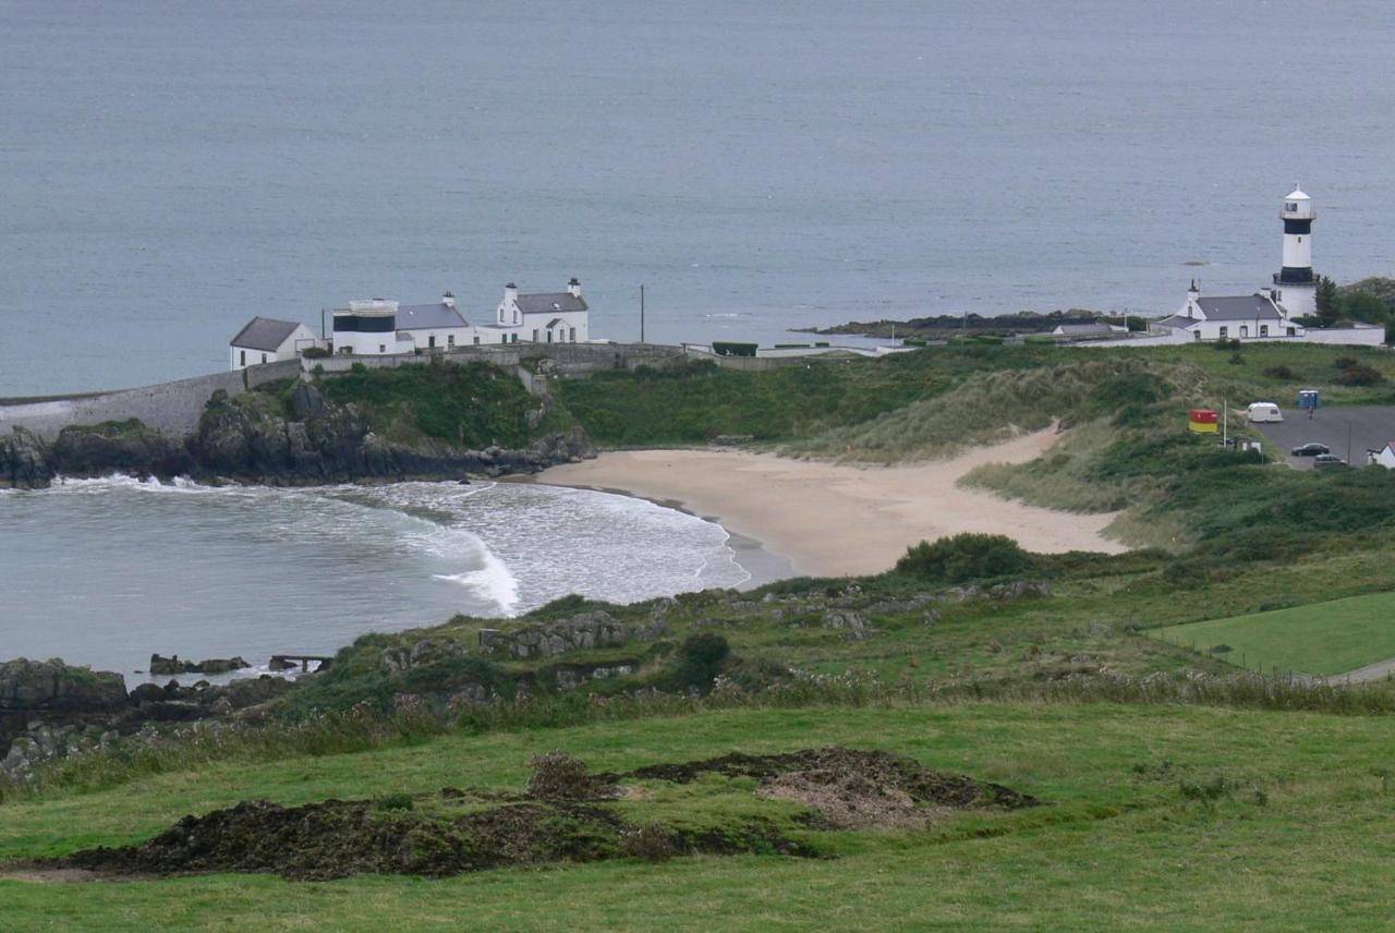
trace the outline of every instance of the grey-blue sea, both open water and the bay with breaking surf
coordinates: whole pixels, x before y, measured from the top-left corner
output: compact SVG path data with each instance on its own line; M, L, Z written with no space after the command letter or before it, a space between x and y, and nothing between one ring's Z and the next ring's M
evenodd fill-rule
M1295 183L1318 272L1388 275L1391 49L1374 0L0 0L0 397L215 371L258 314L480 318L511 280L578 276L617 340L642 285L656 342L1165 312L1267 283ZM508 484L6 494L0 658L735 584L724 534Z

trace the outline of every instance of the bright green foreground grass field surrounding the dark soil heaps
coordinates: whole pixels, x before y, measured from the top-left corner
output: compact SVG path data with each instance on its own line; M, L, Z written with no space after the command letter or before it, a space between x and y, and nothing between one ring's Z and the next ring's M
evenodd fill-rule
M0 859L152 835L246 798L300 803L518 788L530 754L597 768L844 743L910 754L1046 806L918 831L820 834L829 858L699 856L445 880L269 876L0 880L6 929L1375 929L1388 923L1395 766L1381 717L1106 704L730 711L212 766L6 807ZM1225 778L1214 802L1186 781Z

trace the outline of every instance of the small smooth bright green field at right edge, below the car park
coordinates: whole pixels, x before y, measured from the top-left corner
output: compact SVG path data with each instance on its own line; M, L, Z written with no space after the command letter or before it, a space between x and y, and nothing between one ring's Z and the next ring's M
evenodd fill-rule
M1198 651L1229 644L1218 657L1253 669L1332 676L1395 658L1395 593L1175 625L1155 635Z

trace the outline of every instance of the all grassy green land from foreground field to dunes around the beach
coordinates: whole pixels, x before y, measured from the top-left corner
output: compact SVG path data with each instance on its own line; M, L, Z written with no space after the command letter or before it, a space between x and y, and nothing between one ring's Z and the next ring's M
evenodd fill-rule
M1382 381L1343 384L1342 357ZM476 385L470 374L434 382L441 374L425 367L398 372L400 384L356 374L326 379L325 390L439 439L529 430L526 404L508 416L502 399L495 420L469 402L512 389ZM1186 430L1189 407L1286 403L1297 388L1320 388L1328 403L1380 403L1392 378L1395 361L1377 351L1257 346L946 347L773 372L695 367L562 381L545 417L585 427L603 446L730 434L890 463L1057 421L1066 432L1055 450L974 481L1056 508L1124 509L1126 537L1165 547L1023 555L976 541L986 548L974 549L978 561L925 549L873 577L624 607L568 597L519 619L456 616L364 636L261 718L117 742L42 768L0 802L0 860L42 859L141 842L187 813L250 798L371 802L370 827L409 809L437 814L442 796L456 799L442 788L465 788L467 809L527 807L509 795L525 785L530 756L565 750L622 774L624 795L589 819L707 842L749 841L759 824L817 858L759 847L695 848L704 854L671 860L625 851L430 881L208 874L92 884L81 897L6 879L0 866L6 922L412 929L467 913L499 929L689 929L714 918L737 929L1380 926L1395 856L1378 828L1395 799L1395 683L1265 678L1226 664L1228 654L1148 635L1228 619L1215 639L1228 640L1244 616L1264 623L1283 615L1276 609L1395 590L1395 477L1299 473ZM1304 615L1313 612L1339 632L1254 630L1311 658L1292 665L1302 671L1366 658L1350 654L1350 636L1371 616ZM481 629L533 632L534 642L519 642L531 644L548 626L597 623L625 635L561 654L481 646ZM1364 628L1348 630L1356 623ZM1204 640L1198 650L1215 643ZM624 777L827 745L910 756L1043 806L829 828L819 806L745 777Z

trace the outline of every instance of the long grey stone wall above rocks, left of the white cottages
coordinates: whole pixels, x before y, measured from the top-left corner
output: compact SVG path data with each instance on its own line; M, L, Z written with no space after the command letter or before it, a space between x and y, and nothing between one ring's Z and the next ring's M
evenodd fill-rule
M0 432L8 434L21 427L45 441L53 441L63 428L74 424L140 418L144 424L166 434L187 435L198 428L204 404L213 392L223 389L229 395L236 395L266 382L293 379L299 375L300 360L280 360L140 389L35 402L15 399L0 404Z

